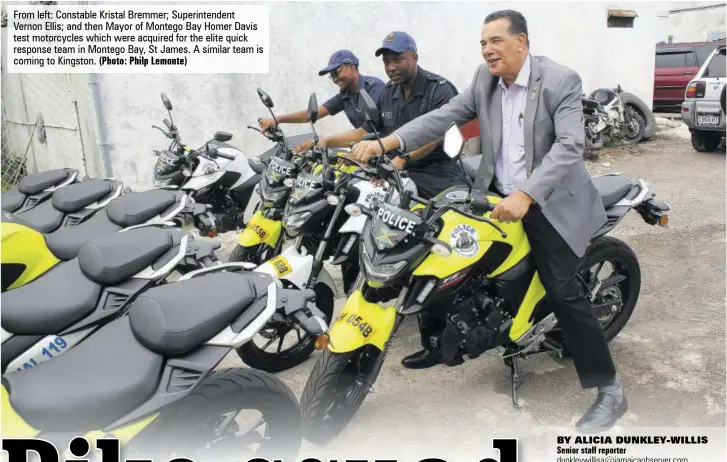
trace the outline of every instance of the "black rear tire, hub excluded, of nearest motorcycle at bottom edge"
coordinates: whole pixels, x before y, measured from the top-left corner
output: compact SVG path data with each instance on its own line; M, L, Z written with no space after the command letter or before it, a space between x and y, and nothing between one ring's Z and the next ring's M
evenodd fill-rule
M263 414L269 439L256 457L293 460L303 441L298 401L285 383L262 371L232 368L217 370L189 396L164 409L123 449L124 457L171 460L187 457L196 462L221 459L219 454L196 454L215 435L204 423L226 412L252 409ZM234 422L233 422L234 423ZM234 442L233 442L234 445ZM233 450L234 452L235 450Z

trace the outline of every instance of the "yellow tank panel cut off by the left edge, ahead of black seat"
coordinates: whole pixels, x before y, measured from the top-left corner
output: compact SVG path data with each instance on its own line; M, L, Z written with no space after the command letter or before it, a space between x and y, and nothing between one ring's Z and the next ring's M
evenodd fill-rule
M25 266L23 274L8 289L33 281L59 262L48 250L43 234L18 223L2 224L2 263Z

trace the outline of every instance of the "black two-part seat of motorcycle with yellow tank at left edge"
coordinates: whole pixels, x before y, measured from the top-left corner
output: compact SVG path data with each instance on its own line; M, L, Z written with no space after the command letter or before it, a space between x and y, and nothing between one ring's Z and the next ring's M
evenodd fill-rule
M102 235L144 223L160 213L177 206L177 195L172 191L151 190L127 193L118 197L106 210L76 226L68 226L46 236L48 249L60 260L78 256L81 247Z

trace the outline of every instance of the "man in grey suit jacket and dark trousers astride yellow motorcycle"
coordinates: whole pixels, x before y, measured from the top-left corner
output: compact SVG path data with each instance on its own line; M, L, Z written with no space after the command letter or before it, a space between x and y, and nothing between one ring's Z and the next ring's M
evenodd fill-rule
M598 387L595 403L577 426L613 426L628 409L603 331L576 279L576 266L593 234L606 222L600 195L583 161L581 79L552 60L529 53L527 22L505 10L485 19L485 63L469 88L441 108L383 138L385 150L417 149L443 136L453 121L479 118L483 153L475 187L504 199L491 217L522 220L532 257L558 318L583 388ZM368 161L376 141L354 146ZM433 342L436 343L436 342ZM404 359L411 368L437 363L437 349Z

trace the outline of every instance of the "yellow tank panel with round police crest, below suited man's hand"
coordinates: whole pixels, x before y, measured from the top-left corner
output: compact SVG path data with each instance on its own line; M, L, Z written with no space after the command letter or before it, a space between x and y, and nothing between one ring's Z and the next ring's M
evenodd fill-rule
M495 196L490 196L489 200L492 203L499 202L499 198ZM488 218L489 215L490 212L485 213ZM429 254L414 271L414 276L434 276L440 279L450 276L477 263L493 242L504 242L512 250L505 261L488 274L488 277L494 277L507 271L530 253L530 243L525 235L522 222L504 223L493 220L507 234L507 237L503 238L502 234L493 226L467 218L452 210L445 212L442 220L444 227L437 238L452 247L452 254L448 257ZM471 239L469 245L466 242L463 245L463 237Z

